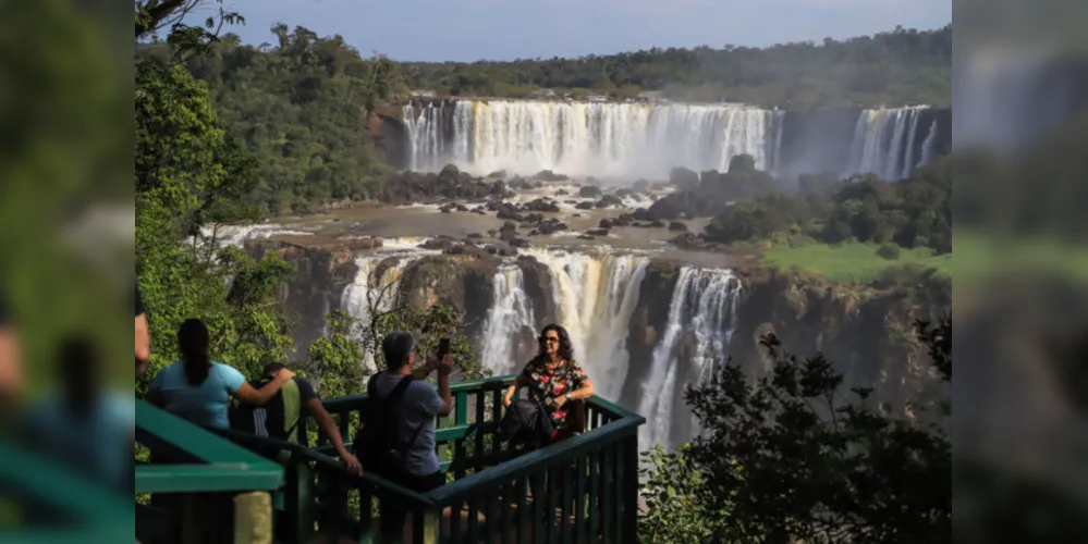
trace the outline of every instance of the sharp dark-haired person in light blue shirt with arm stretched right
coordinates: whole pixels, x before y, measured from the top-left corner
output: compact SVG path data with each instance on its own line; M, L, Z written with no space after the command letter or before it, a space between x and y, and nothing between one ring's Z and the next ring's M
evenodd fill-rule
M241 372L211 360L208 327L198 319L182 324L178 344L182 360L155 374L147 401L198 425L230 428L227 406L231 396L265 406L295 376L294 372L280 369L271 383L254 388Z

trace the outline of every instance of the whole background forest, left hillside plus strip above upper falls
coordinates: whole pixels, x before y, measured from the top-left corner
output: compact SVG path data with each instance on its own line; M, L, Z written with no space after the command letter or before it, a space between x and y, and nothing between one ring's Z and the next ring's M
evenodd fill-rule
M142 40L140 58L170 60L167 40ZM951 27L896 28L871 37L767 49L651 49L609 57L513 62L394 62L363 55L342 36L285 24L271 42L215 36L179 59L208 87L217 114L257 159L245 203L262 215L305 213L372 197L388 168L360 127L367 111L442 95L528 97L540 88L629 98L660 90L676 100L733 100L808 108L930 103L951 97Z

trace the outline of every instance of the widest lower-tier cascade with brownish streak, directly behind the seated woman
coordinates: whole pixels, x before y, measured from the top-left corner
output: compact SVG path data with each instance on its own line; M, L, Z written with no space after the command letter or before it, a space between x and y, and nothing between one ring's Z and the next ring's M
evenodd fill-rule
M575 359L597 394L619 398L629 364L627 330L649 259L542 249L527 252L548 267L559 324L570 333Z

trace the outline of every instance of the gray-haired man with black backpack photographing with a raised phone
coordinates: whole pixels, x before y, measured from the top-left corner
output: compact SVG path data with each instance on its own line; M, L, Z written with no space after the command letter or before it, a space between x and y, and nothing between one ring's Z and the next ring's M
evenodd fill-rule
M453 357L428 358L417 372L416 342L412 333L390 333L381 343L386 370L367 384L364 426L356 437L363 468L408 490L427 493L445 483L435 449L435 418L453 411L450 373ZM438 387L421 381L438 370ZM362 449L359 449L362 448ZM393 497L381 499L381 532L400 540L406 517L404 505Z

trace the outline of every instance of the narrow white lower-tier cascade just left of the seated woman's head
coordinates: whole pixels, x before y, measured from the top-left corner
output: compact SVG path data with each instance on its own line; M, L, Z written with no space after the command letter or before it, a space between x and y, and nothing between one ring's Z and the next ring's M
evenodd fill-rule
M525 296L522 269L502 265L480 339L480 361L494 375L516 374L535 348L536 317ZM527 344L527 345L526 345Z

